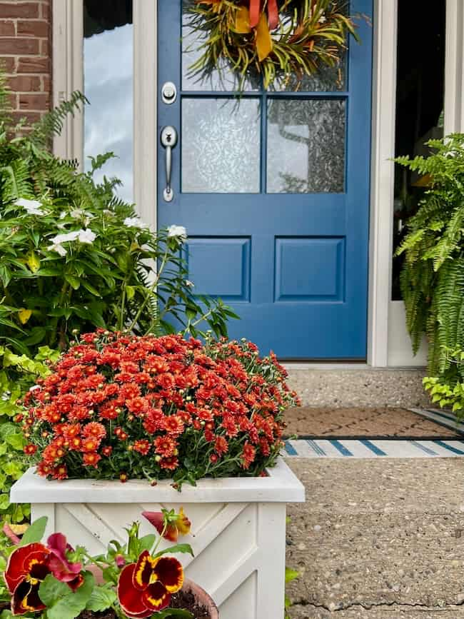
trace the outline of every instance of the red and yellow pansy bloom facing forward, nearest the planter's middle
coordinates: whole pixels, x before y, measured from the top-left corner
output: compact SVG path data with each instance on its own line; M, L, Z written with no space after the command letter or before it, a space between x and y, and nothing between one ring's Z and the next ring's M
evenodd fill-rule
M144 550L137 563L123 568L118 580L118 600L130 618L151 617L171 601L183 585L181 563L173 557L154 558Z

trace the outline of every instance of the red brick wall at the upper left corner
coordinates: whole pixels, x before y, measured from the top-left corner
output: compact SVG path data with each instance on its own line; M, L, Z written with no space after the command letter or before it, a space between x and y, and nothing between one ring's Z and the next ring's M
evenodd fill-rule
M0 63L16 120L38 120L51 101L52 0L0 0Z

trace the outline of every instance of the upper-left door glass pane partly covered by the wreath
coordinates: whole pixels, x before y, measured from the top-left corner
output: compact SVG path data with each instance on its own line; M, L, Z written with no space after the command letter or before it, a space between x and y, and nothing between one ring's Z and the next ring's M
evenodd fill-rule
M182 15L182 89L198 91L236 91L240 85L240 79L236 74L228 69L224 63L223 69L212 71L208 76L195 74L191 71L191 66L203 54L201 44L206 40L201 32L195 31L191 26L191 14L188 13L188 4L191 0L183 1ZM246 81L243 90L259 90L261 80L256 78L255 83Z

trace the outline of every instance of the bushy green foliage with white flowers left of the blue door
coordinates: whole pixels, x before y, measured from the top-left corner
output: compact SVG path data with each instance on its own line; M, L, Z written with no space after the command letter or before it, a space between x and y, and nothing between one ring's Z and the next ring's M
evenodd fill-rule
M113 154L91 158L88 173L50 154L51 136L84 101L75 93L22 135L0 112L0 343L31 355L96 327L226 335L233 312L197 298L187 279L185 229L151 231L116 195L120 181L94 181Z

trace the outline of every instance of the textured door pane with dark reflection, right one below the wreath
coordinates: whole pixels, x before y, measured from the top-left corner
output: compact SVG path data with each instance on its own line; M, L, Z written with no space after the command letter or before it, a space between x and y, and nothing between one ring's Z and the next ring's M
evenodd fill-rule
M346 101L268 103L268 193L342 193Z

